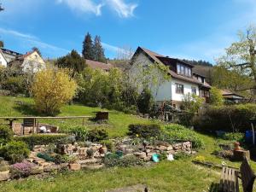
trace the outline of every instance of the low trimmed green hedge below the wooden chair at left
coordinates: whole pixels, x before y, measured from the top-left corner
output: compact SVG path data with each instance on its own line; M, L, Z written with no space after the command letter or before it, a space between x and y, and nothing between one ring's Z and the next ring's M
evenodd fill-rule
M49 143L68 143L67 135L31 135L25 137L15 137L15 141L22 141L30 148L34 145L47 145Z

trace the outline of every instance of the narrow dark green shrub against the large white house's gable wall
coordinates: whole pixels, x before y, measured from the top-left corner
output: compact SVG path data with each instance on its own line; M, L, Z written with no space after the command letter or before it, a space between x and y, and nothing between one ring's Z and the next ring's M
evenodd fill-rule
M137 98L137 107L140 113L149 113L153 106L153 96L150 90L143 90Z

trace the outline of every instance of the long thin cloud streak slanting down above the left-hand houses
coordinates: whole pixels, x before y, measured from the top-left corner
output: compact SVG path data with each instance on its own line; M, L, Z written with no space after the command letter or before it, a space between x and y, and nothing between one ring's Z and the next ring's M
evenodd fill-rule
M0 27L0 32L3 35L6 36L10 36L12 38L17 38L18 40L20 40L20 42L22 42L23 45L27 47L38 47L38 49L42 50L42 53L44 55L44 53L46 53L47 55L65 55L68 52L70 52L67 49L62 49L60 47L57 47L53 44L47 44L44 43L42 41L40 41L39 38L37 38L36 36L33 36L31 34L26 34L26 33L22 33L22 32L17 32L15 30L11 30L11 29L3 29Z

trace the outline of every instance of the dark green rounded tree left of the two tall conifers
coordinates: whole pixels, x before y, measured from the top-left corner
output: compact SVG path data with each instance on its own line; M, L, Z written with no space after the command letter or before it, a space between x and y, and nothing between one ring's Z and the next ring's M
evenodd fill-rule
M61 68L69 68L72 71L72 77L74 77L76 73L84 71L85 60L73 49L71 53L58 58L57 61L55 61L55 65Z

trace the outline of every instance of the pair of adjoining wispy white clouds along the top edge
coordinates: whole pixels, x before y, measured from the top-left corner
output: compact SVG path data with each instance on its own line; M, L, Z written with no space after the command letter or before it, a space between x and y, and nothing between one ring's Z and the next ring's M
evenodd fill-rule
M66 3L73 10L79 10L84 13L102 15L102 7L108 6L113 9L119 17L128 18L133 16L136 3L125 3L125 0L101 0L96 3L95 0L56 0L57 3Z

